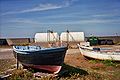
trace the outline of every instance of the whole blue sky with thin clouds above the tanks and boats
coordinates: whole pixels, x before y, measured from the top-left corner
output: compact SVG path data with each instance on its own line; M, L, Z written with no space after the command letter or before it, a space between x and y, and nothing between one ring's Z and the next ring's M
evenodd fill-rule
M120 35L120 0L0 0L1 38L32 38L48 29Z

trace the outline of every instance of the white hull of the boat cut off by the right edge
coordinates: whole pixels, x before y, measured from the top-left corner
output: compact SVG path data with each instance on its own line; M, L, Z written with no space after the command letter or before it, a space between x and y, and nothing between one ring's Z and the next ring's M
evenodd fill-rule
M81 54L85 57L93 58L93 59L99 59L99 60L113 60L113 61L120 61L120 52L100 52L100 51L89 51L86 49L83 49L81 46L79 46L79 50Z

